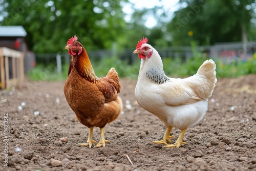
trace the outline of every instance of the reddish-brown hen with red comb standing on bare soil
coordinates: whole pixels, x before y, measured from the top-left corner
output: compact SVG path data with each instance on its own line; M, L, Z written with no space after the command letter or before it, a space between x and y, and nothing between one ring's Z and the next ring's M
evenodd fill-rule
M120 92L119 77L114 68L111 68L106 77L98 78L95 75L86 49L73 36L69 39L65 49L71 55L68 78L64 93L75 112L77 120L90 128L87 143L78 146L92 147L93 127L100 127L100 141L94 147L105 146L105 125L118 118L122 111L122 101L118 97Z

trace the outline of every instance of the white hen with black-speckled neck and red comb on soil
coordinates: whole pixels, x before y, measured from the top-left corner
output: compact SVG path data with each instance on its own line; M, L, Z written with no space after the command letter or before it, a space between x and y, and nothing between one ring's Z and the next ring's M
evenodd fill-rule
M180 147L188 126L197 124L208 109L208 98L214 91L216 65L206 60L198 72L188 78L169 78L163 71L163 63L158 52L147 43L147 38L138 42L134 53L141 58L140 71L135 88L135 98L146 111L156 115L167 127L161 141L164 147ZM181 130L174 144L169 138L173 127Z

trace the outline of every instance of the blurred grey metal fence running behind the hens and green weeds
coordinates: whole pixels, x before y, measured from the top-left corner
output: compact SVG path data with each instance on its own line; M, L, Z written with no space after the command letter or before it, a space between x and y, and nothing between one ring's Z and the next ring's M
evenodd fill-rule
M155 47L162 58L181 58L182 61L186 61L188 58L194 56L193 49L190 46L180 47ZM251 41L244 46L242 42L228 42L219 43L213 46L198 46L197 52L202 57L209 57L215 59L221 59L224 62L230 63L233 60L241 59L242 61L249 60L250 58L256 58L256 41ZM120 51L113 50L96 50L88 51L90 60L98 61L104 57L117 56L121 60L127 61L127 64L132 65L137 55L133 54L134 49L123 49ZM69 63L70 55L68 53L48 53L48 54L36 54L36 62L44 66L57 65L57 57L61 58L61 63ZM58 59L59 60L59 59Z

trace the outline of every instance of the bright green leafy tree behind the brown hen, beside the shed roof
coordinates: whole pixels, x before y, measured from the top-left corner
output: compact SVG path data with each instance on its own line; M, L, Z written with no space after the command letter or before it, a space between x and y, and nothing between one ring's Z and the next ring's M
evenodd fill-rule
M36 53L63 51L67 40L77 35L86 49L111 48L126 23L120 2L94 1L12 1L0 0L0 25L22 25L27 42Z

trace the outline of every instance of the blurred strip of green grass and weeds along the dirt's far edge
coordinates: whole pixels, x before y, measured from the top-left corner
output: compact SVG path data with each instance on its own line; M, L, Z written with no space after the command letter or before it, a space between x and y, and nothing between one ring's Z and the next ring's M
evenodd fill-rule
M194 57L189 58L185 63L180 58L164 58L163 68L165 74L170 77L186 77L196 74L198 68L208 58ZM224 63L222 60L215 60L216 72L218 78L224 77L239 77L242 75L256 74L256 59L248 61L233 61L230 64ZM116 57L105 57L100 61L92 62L94 71L98 77L103 77L108 73L110 68L114 67L119 74L119 77L130 77L137 79L140 61L138 60L134 65L127 65L126 61L117 59ZM43 67L41 65L35 67L28 73L31 80L66 80L68 76L68 65L62 66L62 74L58 74L55 65Z

